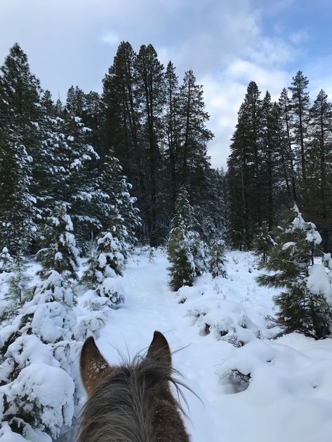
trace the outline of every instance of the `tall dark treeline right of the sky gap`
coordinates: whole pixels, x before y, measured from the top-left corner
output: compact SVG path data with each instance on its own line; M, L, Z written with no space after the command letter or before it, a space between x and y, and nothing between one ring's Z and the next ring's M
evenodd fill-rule
M272 230L293 202L317 225L322 249L332 247L332 104L324 90L310 104L307 87L298 71L273 102L254 81L248 85L228 158L234 247L251 249L264 222Z

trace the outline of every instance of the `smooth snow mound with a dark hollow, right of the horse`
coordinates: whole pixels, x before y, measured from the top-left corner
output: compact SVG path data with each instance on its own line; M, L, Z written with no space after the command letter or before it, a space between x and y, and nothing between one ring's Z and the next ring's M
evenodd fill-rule
M286 426L287 440L306 442L331 440L331 373L332 340L297 333L276 341L253 339L217 371L224 394L241 394L253 415L266 416L272 428Z

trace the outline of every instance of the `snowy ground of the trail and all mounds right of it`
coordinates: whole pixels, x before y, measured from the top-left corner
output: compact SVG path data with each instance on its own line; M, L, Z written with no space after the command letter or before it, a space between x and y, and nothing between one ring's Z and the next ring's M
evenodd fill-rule
M117 350L133 355L163 332L174 367L201 399L185 392L192 442L331 442L332 340L269 340L264 318L275 291L255 283L252 254L227 259L227 279L204 275L175 294L161 251L152 262L135 256L122 281L125 304L102 329L100 350L116 363Z

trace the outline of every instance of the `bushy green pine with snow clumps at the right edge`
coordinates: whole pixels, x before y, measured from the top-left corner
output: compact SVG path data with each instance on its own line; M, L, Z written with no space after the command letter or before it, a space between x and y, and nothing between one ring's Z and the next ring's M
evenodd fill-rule
M284 289L275 298L279 312L274 319L282 333L298 331L315 339L331 333L331 281L323 265L312 265L312 249L320 242L314 224L303 220L296 205L285 214L278 244L264 265L273 273L258 277L260 285ZM322 277L327 284L319 284Z

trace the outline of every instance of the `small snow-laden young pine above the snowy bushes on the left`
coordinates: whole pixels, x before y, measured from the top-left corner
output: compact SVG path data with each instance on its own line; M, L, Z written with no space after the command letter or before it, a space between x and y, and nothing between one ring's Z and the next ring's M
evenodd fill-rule
M47 279L53 270L62 277L77 279L79 251L72 231L72 220L67 214L67 205L61 204L40 229L41 249L36 254L36 261L42 265L39 270L42 279Z

